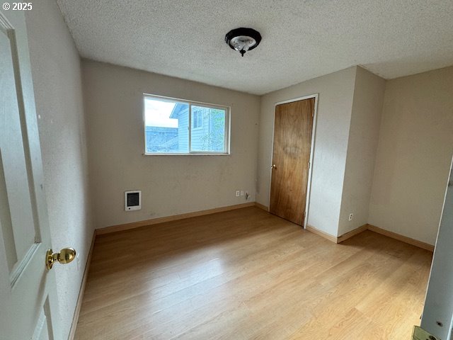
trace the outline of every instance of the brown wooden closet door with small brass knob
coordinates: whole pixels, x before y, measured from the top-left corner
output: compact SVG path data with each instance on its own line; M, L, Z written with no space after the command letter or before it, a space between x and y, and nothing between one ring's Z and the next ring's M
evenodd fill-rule
M270 213L304 225L314 98L275 107Z

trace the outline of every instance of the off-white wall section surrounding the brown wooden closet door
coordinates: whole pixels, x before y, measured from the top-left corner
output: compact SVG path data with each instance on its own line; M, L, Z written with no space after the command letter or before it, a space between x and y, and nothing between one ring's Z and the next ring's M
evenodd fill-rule
M269 205L275 103L319 94L308 224L338 232L355 73L350 67L261 97L257 202Z

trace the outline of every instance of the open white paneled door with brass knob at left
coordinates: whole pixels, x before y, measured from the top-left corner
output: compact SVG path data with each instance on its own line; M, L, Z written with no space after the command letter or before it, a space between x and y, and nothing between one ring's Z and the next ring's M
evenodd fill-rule
M49 37L51 38L51 37ZM61 339L25 16L0 11L0 339Z

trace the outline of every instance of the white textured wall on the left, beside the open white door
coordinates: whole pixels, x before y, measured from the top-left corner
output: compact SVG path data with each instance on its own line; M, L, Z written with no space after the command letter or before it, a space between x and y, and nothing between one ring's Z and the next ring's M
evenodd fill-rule
M80 60L55 1L35 1L25 14L52 247L74 247L81 263L52 269L67 337L93 237Z

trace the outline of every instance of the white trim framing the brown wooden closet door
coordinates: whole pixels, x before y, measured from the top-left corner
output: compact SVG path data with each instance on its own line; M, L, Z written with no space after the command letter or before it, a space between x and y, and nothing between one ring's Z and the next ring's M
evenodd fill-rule
M314 141L316 136L316 120L318 117L318 101L319 94L310 94L309 96L303 96L299 98L288 99L286 101L279 101L274 104L274 119L272 126L272 148L270 149L270 160L273 162L274 156L274 132L275 132L275 108L277 105L294 103L294 101L304 101L306 99L314 98L314 114L313 114L313 126L311 127L311 147L310 147L310 168L309 168L309 178L306 182L306 203L305 203L305 216L304 216L304 229L306 229L306 224L309 220L309 208L310 208L310 194L311 194L311 172L313 169L313 155L314 155ZM269 203L268 207L270 208L270 191L272 188L272 168L270 167L270 180L269 180Z

